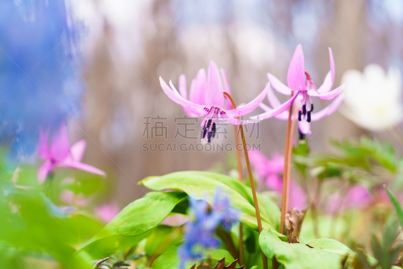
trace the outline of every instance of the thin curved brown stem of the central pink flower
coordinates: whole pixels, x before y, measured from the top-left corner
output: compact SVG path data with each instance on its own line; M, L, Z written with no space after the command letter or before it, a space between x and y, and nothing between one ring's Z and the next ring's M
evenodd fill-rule
M226 95L229 100L231 101L231 104L234 108L236 108L234 99L232 99L231 95L227 92L224 92L224 95ZM237 117L239 119L239 117ZM246 140L245 140L245 134L243 132L242 125L239 125L239 131L241 133L241 139L242 139L242 144L243 144L243 152L245 153L245 160L246 160L246 166L248 168L248 174L249 174L249 182L250 182L250 188L252 189L252 196L253 196L253 204L255 206L255 211L256 211L256 219L257 219L257 228L259 230L259 233L262 231L262 225L261 225L261 219L260 219L260 211L259 211L259 205L257 203L257 196L256 196L256 190L255 190L255 183L253 181L253 175L252 175L252 169L250 168L250 162L249 162L249 156L248 156L248 149L246 147ZM241 249L241 248L239 248ZM264 255L263 252L261 252L261 257L263 260L263 269L267 269L267 257Z

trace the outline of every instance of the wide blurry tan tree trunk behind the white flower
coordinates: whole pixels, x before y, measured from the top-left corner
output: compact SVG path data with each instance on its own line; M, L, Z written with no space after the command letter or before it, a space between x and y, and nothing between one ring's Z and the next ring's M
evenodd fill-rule
M319 74L324 77L328 72L328 52L325 49L330 47L333 51L335 61L335 80L333 88L340 85L343 73L348 69L362 70L365 63L365 1L362 0L338 0L333 2L334 17L329 27L320 25L320 44L318 50ZM343 109L344 104L340 109ZM321 150L328 150L328 140L331 138L346 138L360 136L363 131L354 123L346 119L340 113L330 115L332 124L326 124L320 134L325 137L325 147ZM328 117L328 118L329 118ZM326 122L324 118L322 122Z

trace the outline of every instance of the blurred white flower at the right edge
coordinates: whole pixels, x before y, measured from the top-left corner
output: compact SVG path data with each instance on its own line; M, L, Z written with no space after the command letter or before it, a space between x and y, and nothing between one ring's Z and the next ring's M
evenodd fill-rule
M363 73L347 70L342 77L344 116L371 131L391 128L403 119L401 73L390 67L387 74L380 65L369 64Z

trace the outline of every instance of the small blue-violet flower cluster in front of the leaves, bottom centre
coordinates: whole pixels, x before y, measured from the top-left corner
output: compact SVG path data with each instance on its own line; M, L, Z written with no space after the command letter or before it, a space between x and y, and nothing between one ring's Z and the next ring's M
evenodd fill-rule
M218 226L229 230L239 218L239 212L231 207L229 197L217 189L213 206L204 200L190 201L190 221L186 223L183 244L178 249L180 267L183 268L188 260L203 257L203 250L220 246L220 241L214 237Z

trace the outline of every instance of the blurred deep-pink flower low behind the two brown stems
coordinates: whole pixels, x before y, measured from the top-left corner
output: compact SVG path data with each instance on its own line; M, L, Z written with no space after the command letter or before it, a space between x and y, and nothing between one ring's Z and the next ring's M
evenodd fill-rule
M265 185L279 195L283 193L284 156L275 152L271 159L268 159L263 153L257 150L249 152L250 163L259 178L259 186L264 180ZM293 179L290 181L290 200L289 209L297 207L303 209L306 207L305 191L298 186Z

